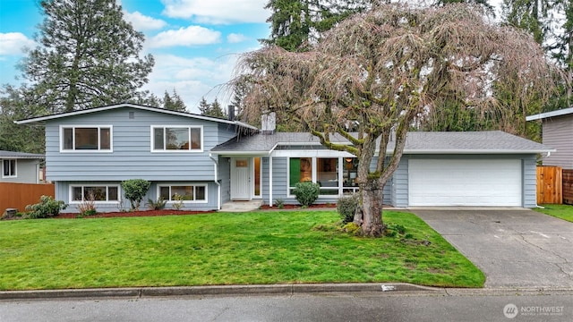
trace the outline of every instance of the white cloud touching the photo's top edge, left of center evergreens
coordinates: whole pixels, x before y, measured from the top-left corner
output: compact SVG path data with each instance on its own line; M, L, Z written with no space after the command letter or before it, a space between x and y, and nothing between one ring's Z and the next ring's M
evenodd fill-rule
M163 14L172 18L192 18L193 21L212 24L233 22L265 22L269 11L264 9L268 0L161 0Z

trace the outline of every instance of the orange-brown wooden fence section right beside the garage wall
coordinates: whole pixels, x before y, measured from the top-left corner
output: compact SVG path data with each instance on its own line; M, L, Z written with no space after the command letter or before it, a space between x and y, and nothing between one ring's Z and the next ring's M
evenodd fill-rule
M560 166L537 166L537 204L563 203L563 178Z

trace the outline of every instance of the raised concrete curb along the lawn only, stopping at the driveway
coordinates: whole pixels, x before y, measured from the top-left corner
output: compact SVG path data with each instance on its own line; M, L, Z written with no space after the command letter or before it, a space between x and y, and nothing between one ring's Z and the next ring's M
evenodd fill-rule
M104 289L69 289L3 291L3 300L47 300L71 298L145 298L167 296L205 296L205 295L294 295L304 293L329 292L443 292L443 289L415 284L372 283L372 284L269 284L269 285L214 285L179 287L128 287Z

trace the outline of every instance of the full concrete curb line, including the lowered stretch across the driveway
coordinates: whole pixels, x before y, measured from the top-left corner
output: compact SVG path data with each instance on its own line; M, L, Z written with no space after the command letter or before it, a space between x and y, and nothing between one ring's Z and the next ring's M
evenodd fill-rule
M359 294L380 293L384 295L428 294L439 296L523 295L523 294L571 294L570 288L437 288L407 283L356 283L356 284L262 284L262 285L214 285L176 287L128 287L103 289L69 289L37 291L3 291L0 301L62 300L62 299L111 299L154 298L184 296L239 296L239 295L302 295L302 294Z

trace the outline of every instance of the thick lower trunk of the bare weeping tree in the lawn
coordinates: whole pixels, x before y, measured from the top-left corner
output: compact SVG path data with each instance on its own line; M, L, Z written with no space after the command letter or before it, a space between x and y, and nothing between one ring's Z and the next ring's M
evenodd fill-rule
M378 179L369 179L361 184L361 206L355 213L355 225L359 225L364 236L380 237L384 232L382 202L384 186Z

